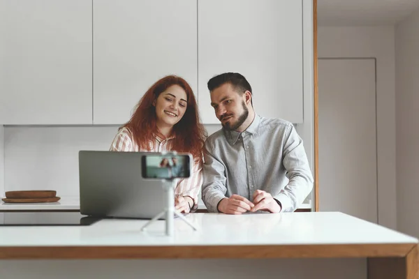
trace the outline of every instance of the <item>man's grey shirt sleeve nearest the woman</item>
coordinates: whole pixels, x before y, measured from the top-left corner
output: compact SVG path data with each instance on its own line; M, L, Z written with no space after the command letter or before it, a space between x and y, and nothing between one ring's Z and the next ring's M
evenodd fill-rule
M226 167L212 153L210 142L205 142L205 163L203 165L203 202L209 212L219 212L217 206L226 197Z

